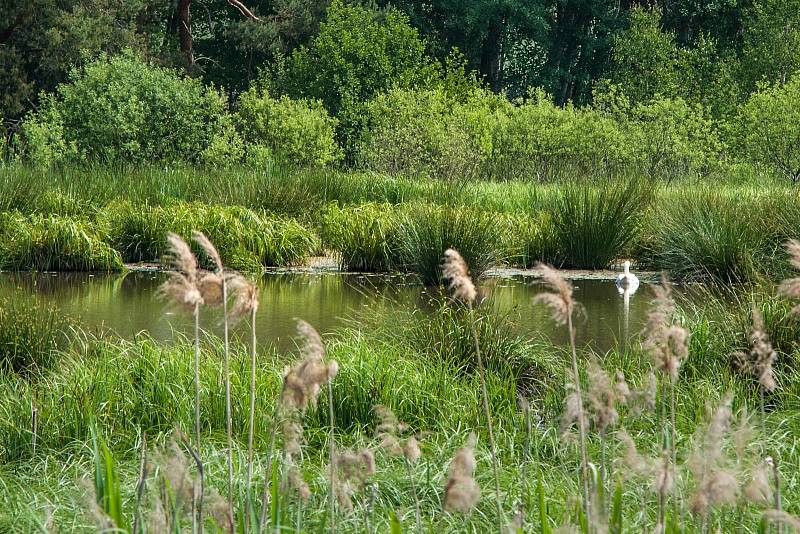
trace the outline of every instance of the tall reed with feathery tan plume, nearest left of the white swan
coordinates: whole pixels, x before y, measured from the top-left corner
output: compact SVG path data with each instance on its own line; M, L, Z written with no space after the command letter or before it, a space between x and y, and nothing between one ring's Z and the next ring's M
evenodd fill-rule
M572 349L572 388L573 392L567 395L567 418L578 423L579 447L581 454L581 484L583 486L583 509L586 517L591 517L589 504L589 462L586 453L586 414L583 409L583 391L581 377L578 371L578 349L575 342L575 328L572 323L576 303L572 298L572 285L549 265L539 264L542 278L550 288L549 292L540 293L534 297L534 303L541 302L550 308L553 320L561 325L566 325L569 330L570 348ZM562 419L564 421L564 419ZM563 426L563 425L562 425Z

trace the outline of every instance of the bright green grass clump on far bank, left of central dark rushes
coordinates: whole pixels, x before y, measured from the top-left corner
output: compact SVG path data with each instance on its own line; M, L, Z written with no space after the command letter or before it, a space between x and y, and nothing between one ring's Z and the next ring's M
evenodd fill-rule
M342 269L388 272L397 266L398 211L389 204L330 205L322 216L322 240Z

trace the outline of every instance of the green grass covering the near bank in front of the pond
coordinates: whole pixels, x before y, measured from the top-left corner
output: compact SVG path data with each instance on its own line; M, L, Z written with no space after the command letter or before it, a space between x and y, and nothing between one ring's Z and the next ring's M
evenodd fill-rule
M770 411L765 428L767 435L754 430L757 449L778 454L782 460L783 497L788 510L793 511L800 500L800 484L791 466L800 461L793 440L800 432L797 417L800 399L800 376L793 361L797 353L796 340L800 329L788 315L786 302L777 301L763 293L748 297L763 312L768 329L780 351L778 373L781 388L770 397ZM757 405L752 381L731 368L729 354L746 346L746 302L734 308L727 304L709 303L702 309L682 308L679 321L692 332L689 358L683 363L679 383L678 458L681 470L697 445L696 428L707 418L709 403L716 403L725 392L734 395L734 419L744 417L748 407ZM745 310L742 312L741 310ZM559 438L559 419L564 401L566 370L563 362L567 349L544 341L513 338L502 328L502 318L481 314L480 339L487 362L489 398L496 424L496 439L500 451L503 501L509 508L524 505L528 521L538 524L542 503L548 524L555 528L568 518L574 521L574 497L580 494L575 472L579 457L569 441ZM25 320L27 316L20 316ZM470 370L474 354L465 336L466 315L444 306L433 313L420 314L413 308L397 308L380 317L364 317L360 327L345 330L336 337L326 337L329 358L339 362L340 373L333 387L336 440L339 447L357 449L373 447L378 469L370 478L376 485L377 498L369 514L373 527L390 528L395 514L403 531L412 531L414 501L411 499L413 481L423 502L423 526L437 532L463 532L492 529L495 524L493 490L488 445L474 370ZM27 336L39 336L40 315ZM398 329L397 325L402 325ZM6 330L0 325L0 330ZM63 328L66 328L62 326ZM0 529L18 526L29 531L44 531L51 518L53 524L69 531L91 531L95 528L87 504L84 485L92 470L91 428L105 437L116 458L122 484L125 508L130 510L135 496L135 481L139 462L138 450L146 433L149 446L165 448L174 436L175 428L188 429L192 421L191 352L188 339L179 338L174 344L157 343L146 336L131 341L97 338L71 328L70 343L57 349L55 363L43 367L32 376L13 372L0 373L0 384L6 391L0 400L0 481L9 491L0 497ZM52 334L55 335L55 334ZM436 343L432 343L436 340ZM24 336L18 339L25 343ZM202 428L207 448L207 482L220 492L225 486L225 417L221 391L222 341L206 336L202 344ZM32 358L42 354L33 351ZM591 354L581 352L585 363ZM247 349L235 345L232 354L232 384L234 399L234 448L237 477L237 499L243 498L245 461L245 421L247 398ZM638 344L624 352L611 351L604 355L602 365L609 372L625 373L631 388L642 387L647 381L645 368L648 356ZM255 466L258 487L265 475L264 450L269 442L270 421L280 391L281 375L292 356L277 354L269 340L259 351L256 391L259 422L255 435L259 452ZM584 364L582 364L582 367ZM523 387L524 386L524 387ZM522 414L517 406L517 394L526 392L536 417L530 436L525 435ZM37 449L31 457L31 402L37 408ZM384 404L398 418L422 433L422 463L411 475L397 458L380 452L378 425L373 407ZM752 408L751 408L752 409ZM316 409L303 419L306 435L302 473L309 482L312 497L302 505L291 499L286 503L291 518L287 528L294 529L301 521L303 529L324 528L326 507L325 478L328 440L328 404L320 398ZM642 454L657 454L660 444L658 413L636 413L633 407L621 409L625 429L634 437ZM476 478L484 489L477 509L463 517L442 514L441 500L447 477L449 458L460 447L470 430L479 435L476 449L478 468ZM529 442L532 458L526 462L525 442ZM589 452L600 454L601 442L592 433ZM621 457L623 444L613 440L605 454ZM733 442L726 441L726 447ZM155 453L153 453L155 454ZM153 456L154 466L158 458ZM163 460L162 460L163 461ZM520 465L528 466L528 478L522 479ZM155 486L158 468L151 480ZM636 476L625 476L622 465L615 465L612 481L622 485L622 517L626 531L641 531L655 521L655 496L649 492L649 482ZM524 473L524 472L523 472ZM687 476L688 475L684 475ZM87 482L88 483L88 482ZM537 489L541 484L543 501ZM691 489L684 480L682 491ZM90 499L90 498L89 498ZM359 493L357 508L343 514L339 520L342 532L363 529L364 506L369 492ZM644 501L642 500L644 499ZM643 505L644 503L644 505ZM723 531L736 525L758 525L760 509L741 504L722 507L713 513L713 523ZM685 527L699 528L699 519L687 515Z

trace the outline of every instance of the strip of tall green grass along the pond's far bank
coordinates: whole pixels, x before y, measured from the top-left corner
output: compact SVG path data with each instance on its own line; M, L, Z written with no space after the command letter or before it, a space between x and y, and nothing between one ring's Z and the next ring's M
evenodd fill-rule
M330 169L71 167L6 167L0 183L5 270L157 262L166 230L188 237L199 228L243 271L324 254L344 270L436 281L441 248L456 246L476 274L539 261L602 269L631 258L674 279L728 283L784 276L775 244L800 237L800 194L776 183L451 184Z

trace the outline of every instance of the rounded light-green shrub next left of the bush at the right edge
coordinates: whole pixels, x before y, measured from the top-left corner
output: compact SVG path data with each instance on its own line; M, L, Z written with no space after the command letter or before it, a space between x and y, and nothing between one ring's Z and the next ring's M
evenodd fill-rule
M634 160L650 177L683 177L707 171L720 158L722 142L700 106L681 98L634 106L624 121Z

